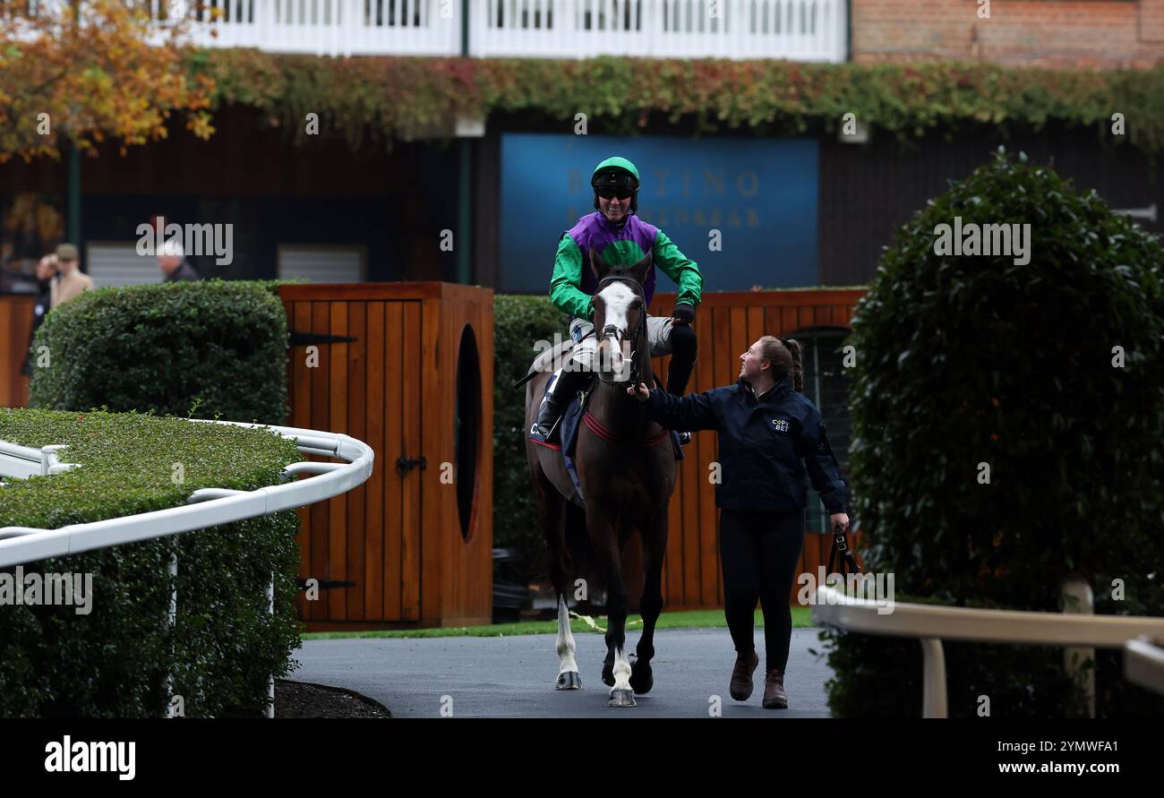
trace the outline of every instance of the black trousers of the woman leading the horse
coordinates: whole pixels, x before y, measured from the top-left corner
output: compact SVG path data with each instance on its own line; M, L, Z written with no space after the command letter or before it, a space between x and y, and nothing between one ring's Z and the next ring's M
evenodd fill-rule
M765 672L783 670L793 636L788 606L804 545L804 511L719 511L719 560L728 628L736 651L755 648L755 601L764 609Z

